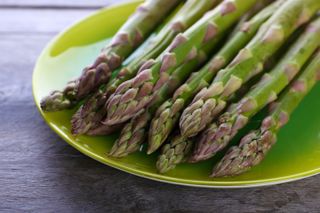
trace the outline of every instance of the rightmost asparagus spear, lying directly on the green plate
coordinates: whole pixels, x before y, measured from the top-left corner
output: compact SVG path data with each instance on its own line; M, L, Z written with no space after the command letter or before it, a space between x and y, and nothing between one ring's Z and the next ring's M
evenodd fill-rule
M258 130L242 138L239 146L231 147L214 167L212 177L239 175L258 165L277 140L277 133L289 121L290 115L316 84L320 75L320 51L308 63L303 73L271 104L271 112Z

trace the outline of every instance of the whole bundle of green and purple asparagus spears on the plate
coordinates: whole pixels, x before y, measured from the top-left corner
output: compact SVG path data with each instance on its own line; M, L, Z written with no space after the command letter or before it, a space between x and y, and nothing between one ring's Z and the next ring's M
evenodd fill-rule
M261 128L232 147L212 177L241 174L262 161L320 75L319 9L318 0L147 0L93 65L45 97L41 107L59 111L86 99L71 119L73 134L121 130L109 153L117 158L146 140L148 154L163 145L156 167L165 173L181 162L211 158L253 115L276 102ZM293 42L286 43L289 37ZM143 50L122 66L144 41ZM290 44L288 51L267 72L264 64L284 44ZM260 81L243 90L259 73L265 73ZM234 98L240 90L245 92Z

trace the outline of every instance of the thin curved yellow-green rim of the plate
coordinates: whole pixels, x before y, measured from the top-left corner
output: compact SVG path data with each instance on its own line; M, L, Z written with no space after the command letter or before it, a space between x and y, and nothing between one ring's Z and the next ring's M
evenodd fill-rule
M73 148L77 149L79 152L82 154L92 158L93 160L96 160L100 163L103 163L107 166L110 166L112 168L121 170L123 172L127 172L129 174L146 178L149 180L153 181L159 181L163 183L169 183L169 184L174 184L174 185L181 185L181 186L190 186L190 187L201 187L201 188L217 188L217 189L230 189L230 188L252 188L252 187L262 187L262 186L271 186L271 185L276 185L276 184L282 184L282 183L288 183L288 182L293 182L297 180L302 180L308 177L315 176L320 173L320 168L314 169L314 170L309 170L306 172L302 173L296 173L293 175L288 175L288 176L282 176L279 178L271 178L271 179L261 179L261 180L250 180L250 181L205 181L205 180L189 180L189 179L182 179L182 178L175 178L171 176L166 176L166 175L161 175L158 173L154 172L147 172L147 171L141 171L139 169L131 168L130 166L125 166L121 162L116 162L116 160L112 160L111 158L103 158L96 153L86 149L85 147L77 144L75 141L70 139L62 130L60 130L57 126L55 126L53 123L50 122L50 120L45 116L45 113L41 110L40 108L40 103L39 100L37 99L35 93L35 76L39 70L39 64L41 59L44 57L45 53L49 50L49 48L68 30L73 28L76 25L81 24L82 22L86 21L87 19L94 18L95 16L98 16L101 13L105 13L109 10L114 10L114 9L121 9L121 7L128 6L130 4L137 4L139 2L142 2L142 0L132 0L130 2L123 2L123 3L117 3L111 6L108 6L106 8L99 9L95 12L92 12L91 14L80 18L67 27L65 27L63 30L61 30L60 33L55 35L43 48L41 51L40 55L38 56L34 69L33 69L33 74L32 74L32 95L33 95L33 100L36 104L36 107L38 111L40 112L42 118L44 121L47 123L47 125L57 134L59 137L61 137L64 141L66 141L69 145L71 145Z

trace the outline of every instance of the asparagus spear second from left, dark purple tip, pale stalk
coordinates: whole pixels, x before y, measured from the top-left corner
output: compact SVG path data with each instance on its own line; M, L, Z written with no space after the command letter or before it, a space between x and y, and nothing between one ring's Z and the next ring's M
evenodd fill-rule
M74 134L84 134L92 128L92 126L96 126L97 123L105 117L107 108L103 106L116 88L124 81L133 78L144 62L157 57L165 50L178 33L189 28L219 1L220 0L188 0L157 36L148 42L138 57L129 65L123 67L114 79L111 79L107 85L103 85L80 107L72 118L72 132ZM142 69L144 68L146 68L146 66L142 67Z

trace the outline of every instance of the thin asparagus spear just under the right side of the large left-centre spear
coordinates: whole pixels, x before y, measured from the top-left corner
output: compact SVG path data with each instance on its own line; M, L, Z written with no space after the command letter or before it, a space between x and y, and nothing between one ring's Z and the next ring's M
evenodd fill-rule
M149 122L157 108L169 97L169 95L189 76L190 72L203 63L206 54L200 54L197 58L181 65L157 92L153 101L139 115L133 117L120 133L119 139L113 145L109 155L112 157L124 157L139 149L143 143Z

